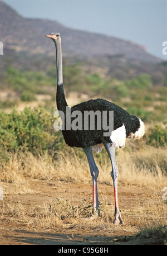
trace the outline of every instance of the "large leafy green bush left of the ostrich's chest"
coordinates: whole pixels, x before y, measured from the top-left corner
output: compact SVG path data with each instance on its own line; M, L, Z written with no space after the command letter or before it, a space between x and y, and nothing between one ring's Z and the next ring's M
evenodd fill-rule
M56 153L63 146L63 138L60 131L53 129L54 121L53 115L42 107L26 107L21 113L16 109L0 112L1 152Z

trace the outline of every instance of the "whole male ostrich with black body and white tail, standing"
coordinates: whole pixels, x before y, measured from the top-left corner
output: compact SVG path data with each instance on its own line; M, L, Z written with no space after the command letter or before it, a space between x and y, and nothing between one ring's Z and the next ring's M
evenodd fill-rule
M93 182L93 214L99 211L99 200L97 194L97 177L99 174L99 169L95 163L94 155L92 150L97 153L101 151L102 146L105 146L107 153L109 154L109 158L112 164L112 172L111 177L114 183L114 197L115 197L115 220L114 223L120 224L123 223L121 214L119 211L119 205L117 200L117 177L118 177L118 168L115 160L115 149L123 148L125 146L126 138L132 139L140 139L144 135L144 123L140 120L140 118L136 116L130 116L125 110L121 107L106 101L105 99L94 99L86 102L82 102L76 106L73 106L71 111L71 116L74 111L80 111L84 114L85 111L103 111L107 112L107 118L109 118L110 111L114 111L114 128L111 130L110 135L104 136L104 132L106 130L97 129L95 127L94 130L89 129L81 130L81 129L69 129L67 127L67 102L65 98L65 94L63 91L63 77L62 77L62 51L61 51L61 36L60 33L51 33L50 35L46 35L50 37L55 43L56 47L56 72L57 72L57 94L56 94L56 103L57 109L59 112L65 113L65 118L63 120L64 129L62 130L63 138L69 146L75 146L77 148L82 148L86 154L87 160L90 166L90 172L92 176ZM113 113L113 112L112 112ZM60 114L61 116L61 114ZM75 116L75 115L74 115ZM72 121L72 118L71 118ZM91 120L90 120L91 121ZM97 124L97 120L96 124ZM83 119L84 122L84 119ZM107 120L107 124L109 124ZM68 124L69 125L69 124ZM71 124L70 124L71 125Z

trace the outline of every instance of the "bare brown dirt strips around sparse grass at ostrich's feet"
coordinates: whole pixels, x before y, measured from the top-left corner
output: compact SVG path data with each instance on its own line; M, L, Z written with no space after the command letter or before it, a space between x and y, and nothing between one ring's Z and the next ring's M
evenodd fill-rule
M5 202L19 201L27 209L27 212L31 215L37 208L44 203L47 205L51 200L56 197L68 196L72 203L80 205L86 198L91 198L91 184L77 184L73 182L65 181L33 181L32 188L38 191L35 194L27 195L4 195L3 201L0 201L1 206L1 219L0 219L0 244L17 245L17 244L55 244L55 245L106 245L106 244L130 244L131 238L134 237L137 228L128 228L128 225L115 226L110 224L110 227L103 227L99 225L99 229L92 227L83 228L80 223L68 224L61 226L57 229L27 229L27 224L23 224L21 221L10 221L7 214L3 212ZM10 186L10 184L8 184ZM107 184L99 184L99 197L109 198L109 204L114 201L113 187ZM121 210L124 212L132 209L136 205L136 200L143 202L148 198L154 198L154 190L125 187L120 184L119 186L119 202ZM8 213L9 215L9 213ZM111 212L114 215L114 212ZM17 218L17 216L16 216ZM11 219L12 220L12 219ZM85 222L89 223L89 219L85 219ZM98 220L96 220L97 222ZM86 224L89 225L89 224Z

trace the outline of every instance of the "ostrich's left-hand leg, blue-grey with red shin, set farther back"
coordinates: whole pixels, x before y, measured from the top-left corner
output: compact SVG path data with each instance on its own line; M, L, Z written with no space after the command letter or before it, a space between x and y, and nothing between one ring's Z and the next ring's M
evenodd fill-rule
M99 210L99 199L98 199L98 193L97 193L97 177L99 174L99 169L95 163L94 155L92 152L92 147L90 148L84 148L84 152L86 154L87 160L89 162L89 167L90 167L90 172L92 176L92 181L93 181L93 214L98 213L100 215L100 210Z

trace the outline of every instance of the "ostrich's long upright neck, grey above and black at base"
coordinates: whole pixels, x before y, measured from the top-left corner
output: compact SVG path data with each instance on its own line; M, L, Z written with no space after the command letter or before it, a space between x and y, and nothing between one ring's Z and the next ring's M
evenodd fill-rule
M56 73L57 73L56 103L57 103L57 109L65 113L67 102L65 98L64 89L63 89L61 43L55 44L55 46L56 46Z

